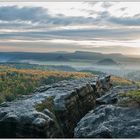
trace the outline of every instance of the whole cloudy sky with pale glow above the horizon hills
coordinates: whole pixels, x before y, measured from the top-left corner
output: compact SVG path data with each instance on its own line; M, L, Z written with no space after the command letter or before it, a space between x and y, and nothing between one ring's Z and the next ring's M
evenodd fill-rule
M140 2L0 2L0 51L140 55Z

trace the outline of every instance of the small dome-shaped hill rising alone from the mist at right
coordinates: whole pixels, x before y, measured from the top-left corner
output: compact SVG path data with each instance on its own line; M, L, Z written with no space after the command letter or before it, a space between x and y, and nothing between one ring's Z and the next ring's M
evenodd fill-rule
M116 61L110 58L102 59L97 62L98 65L118 65Z

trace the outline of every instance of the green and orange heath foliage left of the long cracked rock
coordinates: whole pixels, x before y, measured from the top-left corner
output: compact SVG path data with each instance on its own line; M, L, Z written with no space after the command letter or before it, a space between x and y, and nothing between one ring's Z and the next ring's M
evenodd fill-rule
M0 66L0 103L31 94L43 84L91 76L93 75L81 72L16 69L7 65Z

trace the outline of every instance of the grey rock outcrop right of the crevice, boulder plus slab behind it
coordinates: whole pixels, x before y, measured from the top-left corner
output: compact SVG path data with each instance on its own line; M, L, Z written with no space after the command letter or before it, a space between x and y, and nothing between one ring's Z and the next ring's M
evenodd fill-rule
M118 86L96 100L97 108L86 114L77 124L77 138L139 138L140 109L123 107L119 96L137 86Z

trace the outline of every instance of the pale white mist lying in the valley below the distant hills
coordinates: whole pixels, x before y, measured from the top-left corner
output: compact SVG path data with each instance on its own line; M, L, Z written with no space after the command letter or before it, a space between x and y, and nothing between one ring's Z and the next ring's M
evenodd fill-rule
M69 66L76 71L99 71L109 75L121 76L129 78L130 80L139 79L140 65L139 62L117 62L117 65L99 65L97 61L35 61L35 60L22 60L21 63L48 65L48 66ZM135 74L137 76L135 76ZM137 77L137 78L134 78Z

